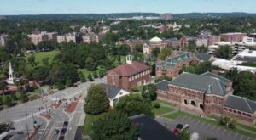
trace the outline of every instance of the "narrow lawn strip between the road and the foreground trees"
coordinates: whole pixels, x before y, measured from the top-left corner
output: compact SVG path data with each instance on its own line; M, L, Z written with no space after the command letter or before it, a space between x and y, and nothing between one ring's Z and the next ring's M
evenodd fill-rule
M103 115L106 115L106 113L103 113L101 115L86 115L86 118L84 120L84 129L83 129L83 134L89 135L92 129L92 122L96 119L101 118Z

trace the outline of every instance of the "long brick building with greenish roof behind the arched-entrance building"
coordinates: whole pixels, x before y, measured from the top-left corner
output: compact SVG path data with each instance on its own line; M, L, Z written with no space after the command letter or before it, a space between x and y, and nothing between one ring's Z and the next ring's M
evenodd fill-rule
M196 64L198 60L193 53L174 52L165 61L158 61L155 65L155 76L176 77L183 66Z

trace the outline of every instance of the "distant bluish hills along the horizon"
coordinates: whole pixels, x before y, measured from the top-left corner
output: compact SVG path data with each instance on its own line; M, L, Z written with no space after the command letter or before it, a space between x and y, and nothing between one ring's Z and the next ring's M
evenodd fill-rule
M47 19L47 20L79 20L79 19L107 19L107 18L131 18L133 16L159 16L157 13L116 13L116 14L28 14L6 15L8 19ZM256 14L248 13L186 13L172 14L174 18L224 18L224 17L256 17ZM1 19L1 16L0 16Z

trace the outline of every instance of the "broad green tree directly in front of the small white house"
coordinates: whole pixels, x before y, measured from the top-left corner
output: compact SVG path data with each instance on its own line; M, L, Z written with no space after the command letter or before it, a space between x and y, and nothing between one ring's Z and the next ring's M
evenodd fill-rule
M150 99L142 98L138 95L130 95L121 98L115 108L128 116L140 114L154 115L152 112L153 105L151 104Z

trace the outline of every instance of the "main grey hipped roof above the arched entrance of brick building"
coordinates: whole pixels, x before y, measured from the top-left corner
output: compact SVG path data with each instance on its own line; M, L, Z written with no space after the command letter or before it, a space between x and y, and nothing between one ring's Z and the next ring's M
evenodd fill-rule
M219 96L224 96L226 94L225 83L218 78L211 76L201 76L184 72L174 80L170 81L170 84ZM208 89L209 87L210 91Z

